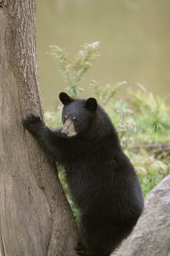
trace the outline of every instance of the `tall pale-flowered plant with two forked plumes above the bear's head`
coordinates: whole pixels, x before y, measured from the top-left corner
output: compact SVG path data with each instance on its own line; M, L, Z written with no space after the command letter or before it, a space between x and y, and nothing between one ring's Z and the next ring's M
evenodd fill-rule
M50 55L58 63L59 72L62 72L63 77L69 82L68 90L70 96L77 98L78 93L83 89L78 87L78 82L82 79L85 72L92 66L92 63L100 57L98 52L100 42L93 42L92 44L83 44L82 50L78 51L71 60L64 48L57 45L50 45Z

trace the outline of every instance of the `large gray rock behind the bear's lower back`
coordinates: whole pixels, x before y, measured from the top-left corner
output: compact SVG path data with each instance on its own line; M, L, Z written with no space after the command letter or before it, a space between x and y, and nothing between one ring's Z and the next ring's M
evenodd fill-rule
M121 256L170 254L170 174L144 199L144 212L133 233L119 248Z

